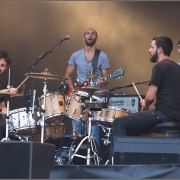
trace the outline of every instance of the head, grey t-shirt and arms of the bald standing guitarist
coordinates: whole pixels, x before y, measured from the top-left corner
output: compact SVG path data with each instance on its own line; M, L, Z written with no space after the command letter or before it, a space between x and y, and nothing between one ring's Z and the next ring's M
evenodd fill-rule
M72 75L76 69L78 84L83 85L83 82L88 81L87 75L92 74L92 60L96 51L96 41L98 35L96 30L88 28L84 32L84 43L85 47L74 52L68 62L68 66L65 73L65 78L68 79L68 85L71 90L74 90ZM96 79L93 79L95 84L102 87L108 82L105 81L102 77L109 75L109 59L105 52L100 51L96 72Z

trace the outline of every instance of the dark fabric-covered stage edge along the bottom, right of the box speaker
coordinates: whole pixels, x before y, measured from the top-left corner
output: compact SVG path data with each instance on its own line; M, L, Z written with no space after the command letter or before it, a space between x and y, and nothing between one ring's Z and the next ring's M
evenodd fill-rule
M55 166L49 179L180 179L180 165Z

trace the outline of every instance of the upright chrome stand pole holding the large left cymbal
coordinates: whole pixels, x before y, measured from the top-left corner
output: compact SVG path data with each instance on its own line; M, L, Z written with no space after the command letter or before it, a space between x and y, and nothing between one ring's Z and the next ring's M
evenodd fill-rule
M44 79L43 96L44 106L42 108L42 121L41 121L41 143L44 142L44 122L45 122L45 111L46 111L46 94L47 94L47 78Z

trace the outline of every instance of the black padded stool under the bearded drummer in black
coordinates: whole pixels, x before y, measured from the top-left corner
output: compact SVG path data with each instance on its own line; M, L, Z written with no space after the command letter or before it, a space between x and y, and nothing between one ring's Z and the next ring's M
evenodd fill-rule
M169 121L156 124L153 127L152 132L163 133L166 138L180 137L180 122Z

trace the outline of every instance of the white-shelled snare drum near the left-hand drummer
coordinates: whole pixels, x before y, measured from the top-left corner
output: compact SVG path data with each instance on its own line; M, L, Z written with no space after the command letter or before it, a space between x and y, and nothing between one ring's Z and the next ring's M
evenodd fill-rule
M9 113L10 133L29 135L36 132L36 121L32 117L32 111L26 108L14 109Z

